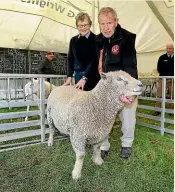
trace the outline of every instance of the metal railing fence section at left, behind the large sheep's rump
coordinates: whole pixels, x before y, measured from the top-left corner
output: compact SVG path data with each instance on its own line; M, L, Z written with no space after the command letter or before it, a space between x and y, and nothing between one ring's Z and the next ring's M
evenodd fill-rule
M39 97L38 99L31 97L30 100L26 100L25 84L29 81L32 82L33 78L39 79ZM45 78L50 78L54 85L59 86L65 82L66 76L0 74L1 84L3 82L5 88L0 90L2 93L0 100L0 151L47 140ZM26 111L28 105L35 107ZM29 120L25 121L25 117L29 117ZM66 137L58 135L56 138L65 139Z

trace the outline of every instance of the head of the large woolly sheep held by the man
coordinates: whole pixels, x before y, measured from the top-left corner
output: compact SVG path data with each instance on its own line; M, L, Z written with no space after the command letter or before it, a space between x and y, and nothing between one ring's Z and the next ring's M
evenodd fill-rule
M117 91L119 95L124 95L127 98L142 93L141 81L131 77L124 71L102 73L101 78L106 81L114 92Z

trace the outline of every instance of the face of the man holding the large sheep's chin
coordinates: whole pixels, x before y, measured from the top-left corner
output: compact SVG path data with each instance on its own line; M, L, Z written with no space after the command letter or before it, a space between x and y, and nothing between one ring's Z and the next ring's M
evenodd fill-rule
M114 34L115 27L118 24L118 19L116 19L112 13L100 14L98 22L102 34L106 38L110 38Z

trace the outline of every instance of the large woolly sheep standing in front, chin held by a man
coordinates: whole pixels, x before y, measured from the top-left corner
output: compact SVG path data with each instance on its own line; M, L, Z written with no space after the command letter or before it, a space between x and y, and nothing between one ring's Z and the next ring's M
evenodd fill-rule
M47 120L50 128L48 146L53 145L54 127L70 135L76 162L73 179L81 177L85 145L94 147L93 161L103 163L101 144L108 138L115 116L124 103L120 96L141 94L142 83L123 71L101 74L101 80L92 91L81 91L72 86L55 88L48 97Z

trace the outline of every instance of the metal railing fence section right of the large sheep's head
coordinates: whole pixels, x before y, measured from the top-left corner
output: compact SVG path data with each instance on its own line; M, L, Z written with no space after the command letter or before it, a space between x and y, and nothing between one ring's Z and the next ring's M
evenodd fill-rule
M174 116L174 77L140 77L139 79L144 87L142 95L139 96L141 104L138 105L138 109L143 109L144 113L137 112L137 117L141 117L140 120L137 120L137 124L156 129L160 131L161 135L174 134L174 129L167 127L174 125L174 118L170 119L171 116ZM142 104L143 100L147 101L146 105ZM160 115L155 116L155 112ZM141 121L142 118L146 118L150 122L154 120L156 123Z

